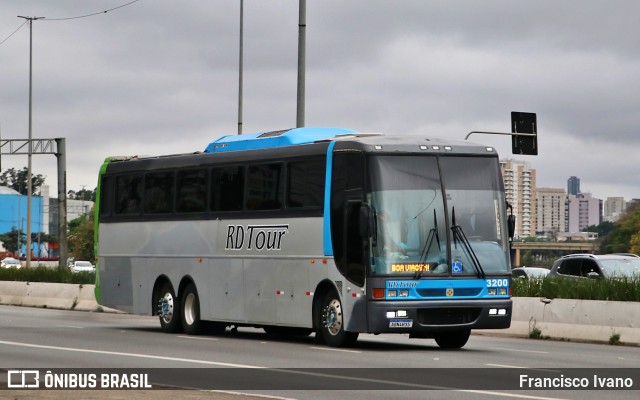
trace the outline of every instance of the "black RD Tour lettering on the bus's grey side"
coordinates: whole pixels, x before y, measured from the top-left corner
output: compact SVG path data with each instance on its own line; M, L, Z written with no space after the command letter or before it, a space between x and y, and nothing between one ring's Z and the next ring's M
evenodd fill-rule
M288 224L227 225L226 250L281 250Z

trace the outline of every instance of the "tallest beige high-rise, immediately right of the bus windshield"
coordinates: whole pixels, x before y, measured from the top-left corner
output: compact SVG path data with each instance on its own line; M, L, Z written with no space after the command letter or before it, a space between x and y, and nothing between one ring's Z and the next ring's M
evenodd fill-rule
M516 216L515 237L536 234L536 170L529 163L500 161L505 196Z

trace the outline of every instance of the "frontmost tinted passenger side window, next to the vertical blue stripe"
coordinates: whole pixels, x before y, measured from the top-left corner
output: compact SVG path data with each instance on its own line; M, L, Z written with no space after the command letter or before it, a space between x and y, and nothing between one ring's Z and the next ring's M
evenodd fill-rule
M322 207L325 161L312 159L289 163L287 207Z

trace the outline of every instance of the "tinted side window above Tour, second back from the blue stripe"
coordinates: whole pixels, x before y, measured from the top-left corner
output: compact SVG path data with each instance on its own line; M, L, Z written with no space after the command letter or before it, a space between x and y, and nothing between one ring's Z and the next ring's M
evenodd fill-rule
M247 210L282 208L282 164L251 165L247 172Z

